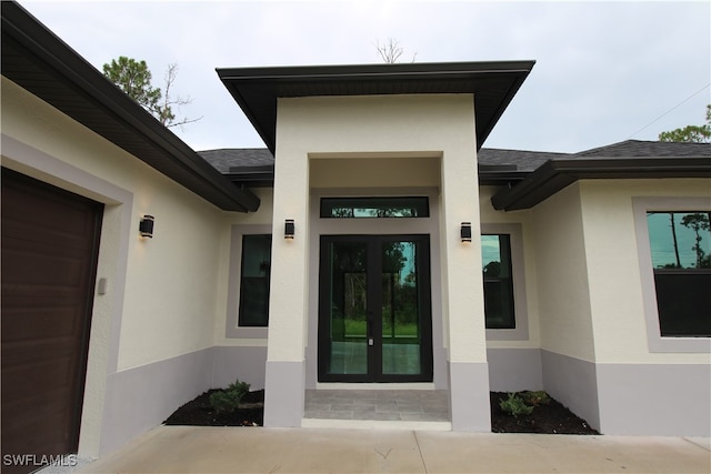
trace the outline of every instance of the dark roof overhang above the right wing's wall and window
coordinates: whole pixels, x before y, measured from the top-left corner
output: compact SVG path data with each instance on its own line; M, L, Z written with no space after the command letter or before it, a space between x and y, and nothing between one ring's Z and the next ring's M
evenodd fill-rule
M523 181L491 198L495 210L530 209L579 180L711 178L709 158L549 160Z

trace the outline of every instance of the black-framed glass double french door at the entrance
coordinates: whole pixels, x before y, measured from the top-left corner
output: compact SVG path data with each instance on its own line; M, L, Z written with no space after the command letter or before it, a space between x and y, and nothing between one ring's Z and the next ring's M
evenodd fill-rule
M429 235L322 235L320 382L431 382Z

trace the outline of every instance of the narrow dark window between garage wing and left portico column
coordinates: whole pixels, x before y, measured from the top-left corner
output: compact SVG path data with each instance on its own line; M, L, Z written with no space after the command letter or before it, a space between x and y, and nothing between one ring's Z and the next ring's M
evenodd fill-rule
M269 323L271 235L242 236L239 325L266 327Z

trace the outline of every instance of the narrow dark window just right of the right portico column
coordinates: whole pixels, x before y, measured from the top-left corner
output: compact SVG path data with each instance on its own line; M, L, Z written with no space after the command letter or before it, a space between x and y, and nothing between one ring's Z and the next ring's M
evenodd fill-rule
M487 329L515 329L510 235L482 235L481 260Z

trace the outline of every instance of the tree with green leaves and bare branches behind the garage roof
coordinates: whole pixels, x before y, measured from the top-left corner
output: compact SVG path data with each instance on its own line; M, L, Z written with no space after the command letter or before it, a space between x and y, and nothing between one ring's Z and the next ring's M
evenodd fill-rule
M166 127L184 125L199 119L176 120L173 105L187 105L192 100L171 95L171 88L178 77L178 64L169 64L166 71L166 93L151 84L153 75L146 61L137 61L124 56L103 64L103 75L119 87L128 97L137 101Z

